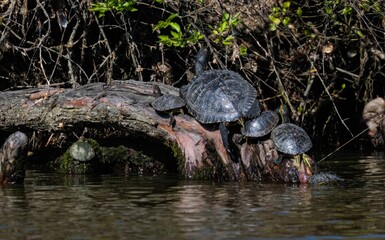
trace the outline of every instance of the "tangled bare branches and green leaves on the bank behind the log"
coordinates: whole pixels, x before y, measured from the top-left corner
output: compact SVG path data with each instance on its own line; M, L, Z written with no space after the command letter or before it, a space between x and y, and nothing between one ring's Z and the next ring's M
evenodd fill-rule
M2 0L0 9L0 90L119 79L180 87L207 46L210 68L239 72L265 108L287 106L318 146L351 139L365 102L384 95L377 0Z

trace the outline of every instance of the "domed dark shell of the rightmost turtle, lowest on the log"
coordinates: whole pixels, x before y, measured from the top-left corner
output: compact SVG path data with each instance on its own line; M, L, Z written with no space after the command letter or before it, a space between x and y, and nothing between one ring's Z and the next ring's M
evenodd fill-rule
M292 123L283 123L274 128L271 140L278 151L291 155L305 153L313 146L305 130Z

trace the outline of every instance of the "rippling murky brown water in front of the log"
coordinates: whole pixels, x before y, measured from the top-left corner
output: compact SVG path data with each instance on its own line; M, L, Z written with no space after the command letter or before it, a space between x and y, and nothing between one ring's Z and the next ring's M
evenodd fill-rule
M65 176L0 188L0 239L385 238L385 157L337 154L339 185Z

